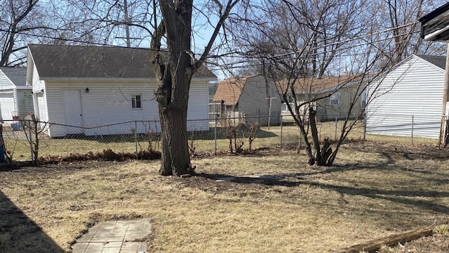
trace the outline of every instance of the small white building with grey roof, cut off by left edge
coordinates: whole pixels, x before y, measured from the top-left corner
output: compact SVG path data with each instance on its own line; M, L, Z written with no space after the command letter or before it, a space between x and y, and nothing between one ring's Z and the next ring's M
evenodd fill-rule
M32 89L26 77L26 67L0 67L1 121L11 120L13 116L22 118L33 112Z

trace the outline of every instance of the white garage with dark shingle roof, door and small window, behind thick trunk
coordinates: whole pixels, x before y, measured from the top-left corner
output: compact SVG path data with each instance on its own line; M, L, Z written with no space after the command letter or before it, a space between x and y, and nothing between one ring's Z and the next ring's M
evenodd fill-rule
M52 123L48 135L158 131L157 124L149 129L149 121L159 120L154 96L158 85L149 53L143 48L29 45L27 83L32 86L36 117ZM208 82L216 79L206 67L195 72L187 119L208 118ZM105 124L110 125L95 127ZM187 129L209 126L207 121L192 121Z

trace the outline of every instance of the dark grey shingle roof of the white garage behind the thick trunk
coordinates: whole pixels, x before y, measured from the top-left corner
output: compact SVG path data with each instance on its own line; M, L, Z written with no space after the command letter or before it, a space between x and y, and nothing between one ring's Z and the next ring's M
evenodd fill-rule
M147 48L118 46L28 46L41 77L154 77ZM201 67L194 77L216 78Z

